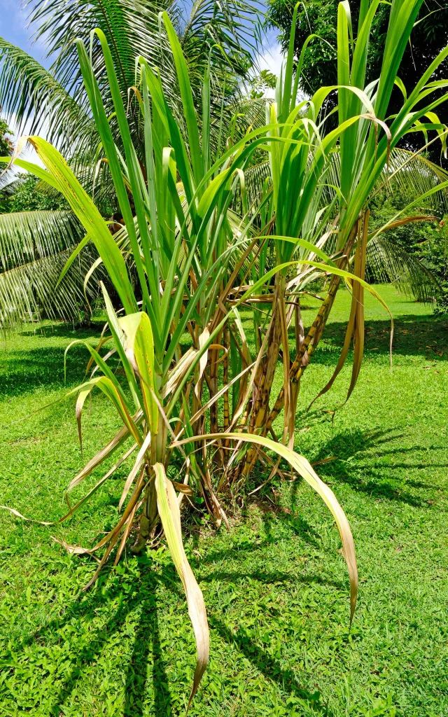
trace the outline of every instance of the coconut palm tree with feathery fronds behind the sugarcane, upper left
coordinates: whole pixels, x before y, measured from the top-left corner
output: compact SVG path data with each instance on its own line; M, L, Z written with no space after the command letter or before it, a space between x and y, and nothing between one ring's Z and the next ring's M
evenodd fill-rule
M167 0L32 0L29 7L33 37L44 42L47 56L54 60L47 70L23 49L0 38L0 103L4 115L14 118L19 134L25 129L29 135L44 133L62 151L82 185L95 196L103 216L119 223L122 219L82 82L76 38L87 45L91 42L92 67L102 101L118 148L122 150L123 146L100 43L97 38L90 41L92 28L102 29L107 38L140 161L144 161L144 144L135 87L136 57L144 57L151 67L158 68L173 115L184 131L171 45L166 34L159 32L161 11L167 11L176 29L198 103L209 63L211 146L216 151L226 140L227 136L219 135L219 127L223 118L229 123L235 113L232 105L241 98L240 80L252 65L252 51L258 41L255 0L196 0L189 14L180 3ZM239 125L244 125L240 131L264 115L264 108L262 115L259 113L260 103L252 105L255 111L245 107L247 118L244 122L239 118ZM22 163L22 167L27 169L27 164ZM3 176L4 184L7 179ZM17 186L16 176L10 180L4 187L9 194ZM112 227L117 228L117 224ZM58 287L57 280L70 250L81 238L80 224L68 207L67 211L0 214L0 326L9 326L39 308L60 318L78 314L80 302L85 303L84 277L95 252L80 252Z

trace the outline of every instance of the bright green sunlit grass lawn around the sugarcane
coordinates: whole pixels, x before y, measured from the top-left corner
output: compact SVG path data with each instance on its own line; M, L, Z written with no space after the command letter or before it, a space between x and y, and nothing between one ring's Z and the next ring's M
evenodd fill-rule
M211 628L192 716L448 716L447 319L379 290L396 319L392 374L389 321L368 297L366 361L353 396L333 419L347 366L306 413L338 360L350 303L342 291L297 415L296 450L311 461L335 457L316 470L353 529L353 627L330 513L301 480L276 478L247 500L231 531L216 533L205 520L191 530L187 551ZM310 323L318 303L307 303ZM0 503L26 516L52 521L65 512L65 487L83 465L75 398L17 421L64 394L65 347L99 331L27 326L1 343ZM86 362L85 348L74 346L69 388ZM118 420L95 397L83 427L86 459ZM166 550L128 555L83 593L94 561L68 556L51 538L91 544L116 519L125 475L123 466L62 526L0 511L1 716L184 714L194 639Z

